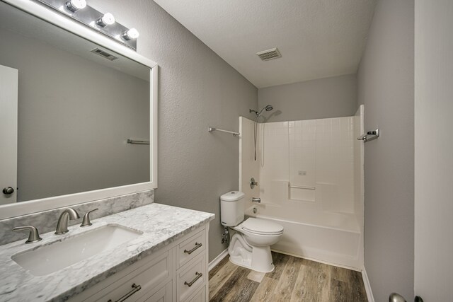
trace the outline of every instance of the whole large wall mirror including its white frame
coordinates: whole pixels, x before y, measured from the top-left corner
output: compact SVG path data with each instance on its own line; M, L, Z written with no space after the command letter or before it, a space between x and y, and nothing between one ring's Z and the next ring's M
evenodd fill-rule
M156 187L154 62L34 1L0 1L0 39L0 219Z

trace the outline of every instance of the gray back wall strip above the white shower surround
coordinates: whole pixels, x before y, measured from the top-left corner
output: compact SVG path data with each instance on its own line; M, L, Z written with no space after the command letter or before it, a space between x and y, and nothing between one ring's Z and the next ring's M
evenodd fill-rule
M355 74L258 89L259 108L273 105L266 122L346 117L357 111Z

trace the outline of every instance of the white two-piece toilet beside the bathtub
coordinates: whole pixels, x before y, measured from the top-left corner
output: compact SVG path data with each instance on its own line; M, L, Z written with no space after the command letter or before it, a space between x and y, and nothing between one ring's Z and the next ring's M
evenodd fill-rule
M257 272L272 272L274 264L270 245L280 240L283 227L266 219L248 218L244 221L246 194L231 191L220 197L220 221L236 231L231 237L229 260L235 265Z

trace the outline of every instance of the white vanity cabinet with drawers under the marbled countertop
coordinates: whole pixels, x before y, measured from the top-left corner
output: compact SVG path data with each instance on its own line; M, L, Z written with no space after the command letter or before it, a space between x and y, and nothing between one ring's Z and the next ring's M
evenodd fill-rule
M206 223L69 301L207 301L208 233Z

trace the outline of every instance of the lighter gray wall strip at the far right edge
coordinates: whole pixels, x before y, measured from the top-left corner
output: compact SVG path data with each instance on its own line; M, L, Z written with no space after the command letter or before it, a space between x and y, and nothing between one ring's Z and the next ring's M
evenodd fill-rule
M452 301L453 1L415 0L415 294Z

